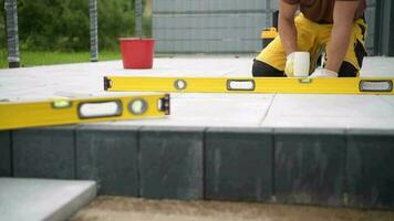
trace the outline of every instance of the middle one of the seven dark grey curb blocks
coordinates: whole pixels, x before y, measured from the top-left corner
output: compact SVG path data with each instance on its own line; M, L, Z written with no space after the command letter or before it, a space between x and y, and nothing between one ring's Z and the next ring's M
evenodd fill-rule
M139 135L141 196L203 199L204 128L146 127Z

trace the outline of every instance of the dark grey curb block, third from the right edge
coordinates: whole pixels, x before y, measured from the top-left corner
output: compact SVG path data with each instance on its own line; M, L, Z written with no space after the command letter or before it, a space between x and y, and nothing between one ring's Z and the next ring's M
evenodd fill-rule
M205 198L269 201L271 196L271 129L208 129Z

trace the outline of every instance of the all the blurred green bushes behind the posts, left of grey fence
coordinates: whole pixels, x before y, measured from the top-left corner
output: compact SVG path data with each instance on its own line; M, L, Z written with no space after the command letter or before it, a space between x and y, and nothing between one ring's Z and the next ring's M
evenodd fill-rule
M133 0L97 0L100 50L118 51L117 39L133 36ZM4 0L0 0L0 50L6 49ZM18 0L20 50L90 50L89 0ZM146 22L145 22L146 23ZM145 24L149 35L149 23ZM146 31L148 30L148 31Z

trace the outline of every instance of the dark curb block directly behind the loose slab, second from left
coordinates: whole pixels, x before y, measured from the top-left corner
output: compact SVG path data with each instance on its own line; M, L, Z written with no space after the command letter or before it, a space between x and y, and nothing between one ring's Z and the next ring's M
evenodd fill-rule
M13 175L25 178L75 178L75 127L12 131Z

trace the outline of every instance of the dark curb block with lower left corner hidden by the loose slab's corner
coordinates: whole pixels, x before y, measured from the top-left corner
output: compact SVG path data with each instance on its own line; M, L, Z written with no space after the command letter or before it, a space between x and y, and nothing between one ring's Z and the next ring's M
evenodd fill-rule
M76 129L76 178L96 180L100 194L138 196L138 127Z

